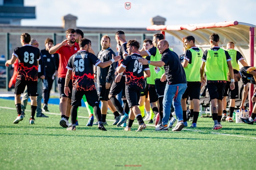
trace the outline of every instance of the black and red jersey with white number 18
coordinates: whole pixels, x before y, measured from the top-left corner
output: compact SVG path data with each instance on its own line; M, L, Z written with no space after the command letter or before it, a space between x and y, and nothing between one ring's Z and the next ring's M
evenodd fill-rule
M66 68L72 70L74 90L96 90L93 65L97 66L100 62L94 54L85 50L79 50L69 58Z

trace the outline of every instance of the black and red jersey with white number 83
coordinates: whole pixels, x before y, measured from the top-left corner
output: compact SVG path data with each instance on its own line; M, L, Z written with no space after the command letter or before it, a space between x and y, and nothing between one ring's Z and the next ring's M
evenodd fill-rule
M37 81L38 63L40 59L39 48L25 44L21 47L16 47L12 55L15 55L19 60L17 70L17 79Z

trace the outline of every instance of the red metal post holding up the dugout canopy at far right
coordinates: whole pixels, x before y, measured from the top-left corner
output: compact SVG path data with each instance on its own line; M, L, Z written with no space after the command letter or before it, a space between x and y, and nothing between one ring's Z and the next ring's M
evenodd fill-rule
M254 66L254 27L250 27L250 66ZM250 84L249 88L249 114L251 116L253 105L252 105L252 96L253 96L253 84Z

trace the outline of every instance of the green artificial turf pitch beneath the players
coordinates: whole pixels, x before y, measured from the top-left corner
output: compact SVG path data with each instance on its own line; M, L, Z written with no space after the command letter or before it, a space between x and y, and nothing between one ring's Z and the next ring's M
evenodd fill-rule
M195 129L189 122L180 132L155 131L152 125L135 132L135 120L126 132L112 125L109 113L107 131L100 131L85 126L88 113L80 107L79 126L67 131L59 125L59 106L48 108L49 118L29 125L28 104L24 120L13 124L14 101L0 99L0 170L256 169L256 125L223 122L221 130L212 130L211 118L199 118Z

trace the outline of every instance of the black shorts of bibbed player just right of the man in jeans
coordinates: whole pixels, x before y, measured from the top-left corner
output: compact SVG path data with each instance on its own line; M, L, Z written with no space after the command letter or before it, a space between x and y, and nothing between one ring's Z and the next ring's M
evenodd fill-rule
M188 87L186 89L186 91L184 92L184 94L182 95L182 99L185 98L190 98L190 100L192 99L200 99L200 90L201 90L201 82L199 81L188 81L187 82Z

